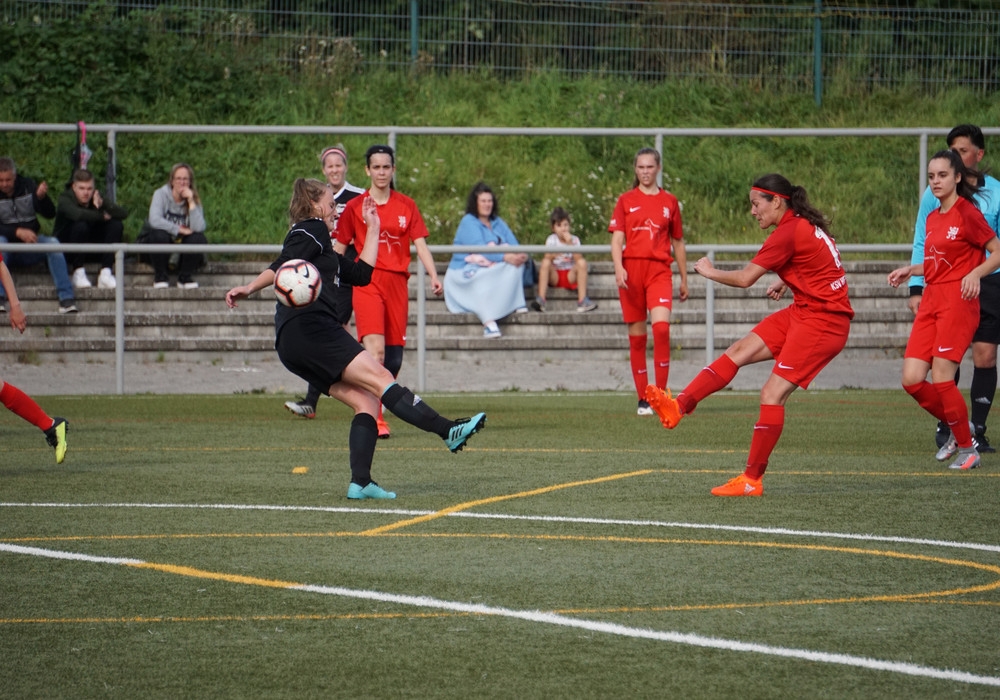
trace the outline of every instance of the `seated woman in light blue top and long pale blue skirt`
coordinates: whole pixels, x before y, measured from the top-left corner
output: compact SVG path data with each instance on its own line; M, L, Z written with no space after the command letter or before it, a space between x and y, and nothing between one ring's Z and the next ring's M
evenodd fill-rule
M517 245L510 227L497 214L493 190L484 182L469 193L465 216L458 224L454 245ZM483 324L484 338L499 338L497 319L522 313L524 253L455 253L444 276L444 300L452 313L474 313Z

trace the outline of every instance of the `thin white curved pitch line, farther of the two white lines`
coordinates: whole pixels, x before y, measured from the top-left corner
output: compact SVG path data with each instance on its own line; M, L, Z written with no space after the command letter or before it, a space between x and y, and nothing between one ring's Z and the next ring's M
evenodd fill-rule
M407 515L419 517L433 515L432 510L403 510L395 508L351 508L347 506L279 506L228 503L3 503L0 508L190 508L204 510L263 510L280 512L319 513L379 513L384 515ZM980 552L1000 553L1000 545L977 542L955 542L952 540L931 540L919 537L897 537L894 535L874 535L852 532L824 532L822 530L790 530L781 527L757 527L752 525L718 525L714 523L683 523L664 520L615 520L607 518L577 518L562 515L512 515L505 513L472 513L459 511L448 513L449 518L480 518L484 520L524 520L529 522L580 523L586 525L615 525L627 527L662 527L686 530L714 530L719 532L743 532L759 535L782 535L786 537L806 537L810 539L854 540L858 542L890 542L894 544L917 544L949 549L968 549Z

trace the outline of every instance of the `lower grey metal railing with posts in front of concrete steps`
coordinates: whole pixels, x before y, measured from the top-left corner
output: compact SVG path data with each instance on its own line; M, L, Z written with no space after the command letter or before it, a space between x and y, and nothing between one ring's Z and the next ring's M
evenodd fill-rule
M106 253L115 254L115 389L118 394L125 393L125 256L130 253L177 253L178 246L171 243L163 244L136 244L136 243L116 243L116 244L55 244L55 243L34 243L30 244L33 253L49 253L53 251L72 253ZM454 245L434 245L428 246L432 255L451 256L453 253L496 253L496 246L454 246ZM841 253L893 253L905 256L902 262L909 260L909 253L912 246L904 244L896 245L843 245L838 246ZM24 243L0 243L0 251L24 252ZM759 249L756 245L689 245L687 246L688 257L691 259L695 255L704 255L711 260L719 254L737 253L751 255ZM575 252L589 255L608 255L611 251L607 245L584 245L584 246L505 246L505 252L517 252L530 254ZM261 254L276 256L281 252L280 245L184 245L183 250L187 253L212 254ZM411 254L415 253L411 249ZM266 265L262 263L261 269ZM427 273L423 265L416 267L416 295L417 295L417 390L427 391ZM220 298L220 304L225 303ZM706 281L705 287L705 360L706 364L715 359L715 290L714 283Z

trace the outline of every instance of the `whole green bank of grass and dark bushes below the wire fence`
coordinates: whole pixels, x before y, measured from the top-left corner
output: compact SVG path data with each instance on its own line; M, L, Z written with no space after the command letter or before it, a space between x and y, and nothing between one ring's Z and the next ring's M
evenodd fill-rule
M238 17L232 19L239 21ZM513 81L487 73L359 72L349 47L310 42L287 64L265 63L260 42L217 46L183 29L162 7L119 16L110 4L44 26L0 25L12 50L0 58L0 110L10 121L251 125L532 127L950 127L1000 121L990 96L950 90L859 91L828 82L822 108L811 90L716 81L650 83L538 72ZM105 174L104 135L93 133L91 169ZM364 150L383 136L119 134L118 200L135 214L134 237L170 166L190 163L215 242L281 240L290 185L321 177L316 155L342 140L350 179L365 185ZM5 135L22 171L58 189L69 176L67 133ZM520 240L542 243L548 214L565 207L585 243L607 242L616 197L631 186L635 137L401 136L397 187L421 207L431 242L450 243L468 191L483 179ZM936 145L936 144L935 144ZM934 147L934 146L932 146ZM841 242L905 242L917 208L918 143L906 138L667 138L664 185L684 207L690 242L747 243L761 232L746 193L769 171L804 185ZM989 160L989 158L987 158Z

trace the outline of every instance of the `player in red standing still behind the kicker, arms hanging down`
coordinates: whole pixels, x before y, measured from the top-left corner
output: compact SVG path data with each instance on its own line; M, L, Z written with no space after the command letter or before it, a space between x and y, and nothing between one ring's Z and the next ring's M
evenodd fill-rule
M681 209L677 197L656 183L659 172L659 152L653 148L641 149L635 156L633 189L618 198L608 225L615 283L622 317L628 326L629 364L639 395L640 416L653 413L644 395L650 383L646 368L647 316L653 330L653 376L656 386L667 387L674 289L670 266L675 259L681 276L681 301L688 297Z

